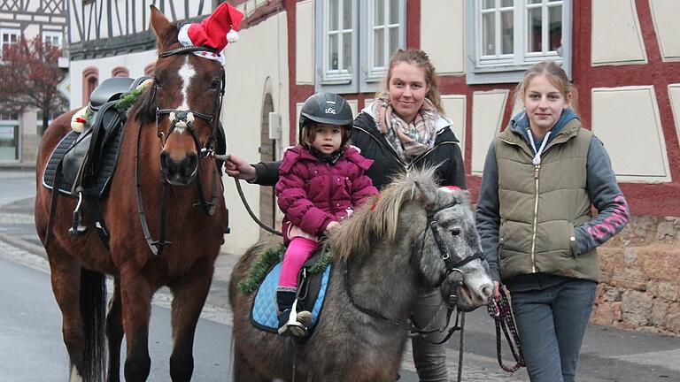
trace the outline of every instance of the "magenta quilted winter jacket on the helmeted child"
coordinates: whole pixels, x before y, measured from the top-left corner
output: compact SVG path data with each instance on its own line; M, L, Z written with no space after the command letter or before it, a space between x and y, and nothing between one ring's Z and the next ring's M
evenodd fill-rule
M372 160L361 157L351 146L336 164L319 161L300 145L287 149L274 188L284 214L283 232L295 225L320 236L328 223L346 218L348 210L377 195L378 189L364 174L371 164Z

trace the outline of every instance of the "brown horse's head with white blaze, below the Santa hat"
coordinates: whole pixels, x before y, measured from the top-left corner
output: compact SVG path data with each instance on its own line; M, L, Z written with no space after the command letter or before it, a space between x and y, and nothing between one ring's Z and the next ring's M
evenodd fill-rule
M158 39L158 61L143 115L157 124L160 167L167 182L187 185L195 179L201 158L214 148L224 93L220 62L194 52L220 52L182 46L178 28L153 5L151 28Z

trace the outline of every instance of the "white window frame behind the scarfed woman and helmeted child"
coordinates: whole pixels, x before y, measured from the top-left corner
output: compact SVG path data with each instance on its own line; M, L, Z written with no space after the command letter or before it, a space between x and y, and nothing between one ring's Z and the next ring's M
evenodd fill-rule
M373 57L371 16L375 9L375 1L383 1L389 4L390 0L344 0L352 2L352 72L344 76L328 73L326 69L328 67L329 48L327 39L328 1L318 0L316 2L315 36L319 43L317 43L315 53L315 91L332 91L338 94L375 92L380 81L383 80L387 68L381 69L378 66L372 66L375 57ZM406 0L398 0L398 8L397 48L404 48L406 46ZM386 7L385 10L387 11L387 9ZM389 59L389 55L386 59Z

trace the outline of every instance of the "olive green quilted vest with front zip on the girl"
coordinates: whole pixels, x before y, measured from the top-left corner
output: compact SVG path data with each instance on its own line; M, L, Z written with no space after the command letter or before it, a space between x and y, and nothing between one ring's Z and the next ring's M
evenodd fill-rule
M586 161L593 134L572 119L549 142L541 164L507 128L496 139L500 200L499 257L503 280L545 272L599 281L595 250L576 255L574 227L591 219Z

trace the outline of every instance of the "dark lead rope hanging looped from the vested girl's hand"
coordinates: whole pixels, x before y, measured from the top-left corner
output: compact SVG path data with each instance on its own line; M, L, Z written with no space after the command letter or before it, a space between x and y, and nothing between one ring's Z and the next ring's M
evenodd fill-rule
M500 299L498 301L491 300L487 309L489 310L489 316L493 318L496 325L496 353L498 357L498 365L501 369L507 372L518 371L520 368L525 367L524 355L522 354L522 348L520 347L520 336L517 334L517 328L514 325L513 311L510 309L510 304L507 302L506 293L502 288L498 289L500 293ZM513 354L515 364L514 366L506 366L500 355L500 331L506 335L507 344L510 347L510 351ZM512 334L512 338L511 338Z

